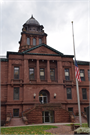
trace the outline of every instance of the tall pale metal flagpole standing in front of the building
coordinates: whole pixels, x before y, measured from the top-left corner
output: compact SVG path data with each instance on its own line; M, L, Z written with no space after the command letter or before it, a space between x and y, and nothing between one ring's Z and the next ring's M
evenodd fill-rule
M75 41L74 41L74 29L73 29L73 21L72 23L72 36L73 36L73 49L74 49L74 63L76 60L76 54L75 54ZM82 126L82 121L81 121L81 109L80 109L80 99L79 99L79 87L78 87L78 80L76 78L76 87L77 87L77 99L78 99L78 110L79 110L79 122L80 126Z

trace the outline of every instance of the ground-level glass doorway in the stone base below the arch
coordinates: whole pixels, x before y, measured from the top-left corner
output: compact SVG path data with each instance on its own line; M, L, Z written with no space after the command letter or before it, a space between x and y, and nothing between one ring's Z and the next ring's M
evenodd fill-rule
M43 111L42 112L43 123L53 123L54 122L54 112L53 111Z

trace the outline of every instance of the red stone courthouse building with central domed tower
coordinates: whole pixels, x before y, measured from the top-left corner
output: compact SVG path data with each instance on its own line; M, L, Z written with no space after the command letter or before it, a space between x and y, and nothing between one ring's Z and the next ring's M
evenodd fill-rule
M23 25L18 52L1 58L1 120L25 116L28 123L70 122L78 113L72 55L47 45L47 34L33 16ZM81 112L89 104L89 62L78 61ZM23 114L23 115L22 115Z

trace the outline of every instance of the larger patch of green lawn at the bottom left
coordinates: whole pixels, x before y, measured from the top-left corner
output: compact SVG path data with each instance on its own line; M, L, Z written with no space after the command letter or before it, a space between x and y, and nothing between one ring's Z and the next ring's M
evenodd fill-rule
M44 126L23 126L23 127L9 127L9 128L1 128L2 134L52 134L48 133L44 130L48 130L51 128L57 128L57 126L52 125L44 125Z

